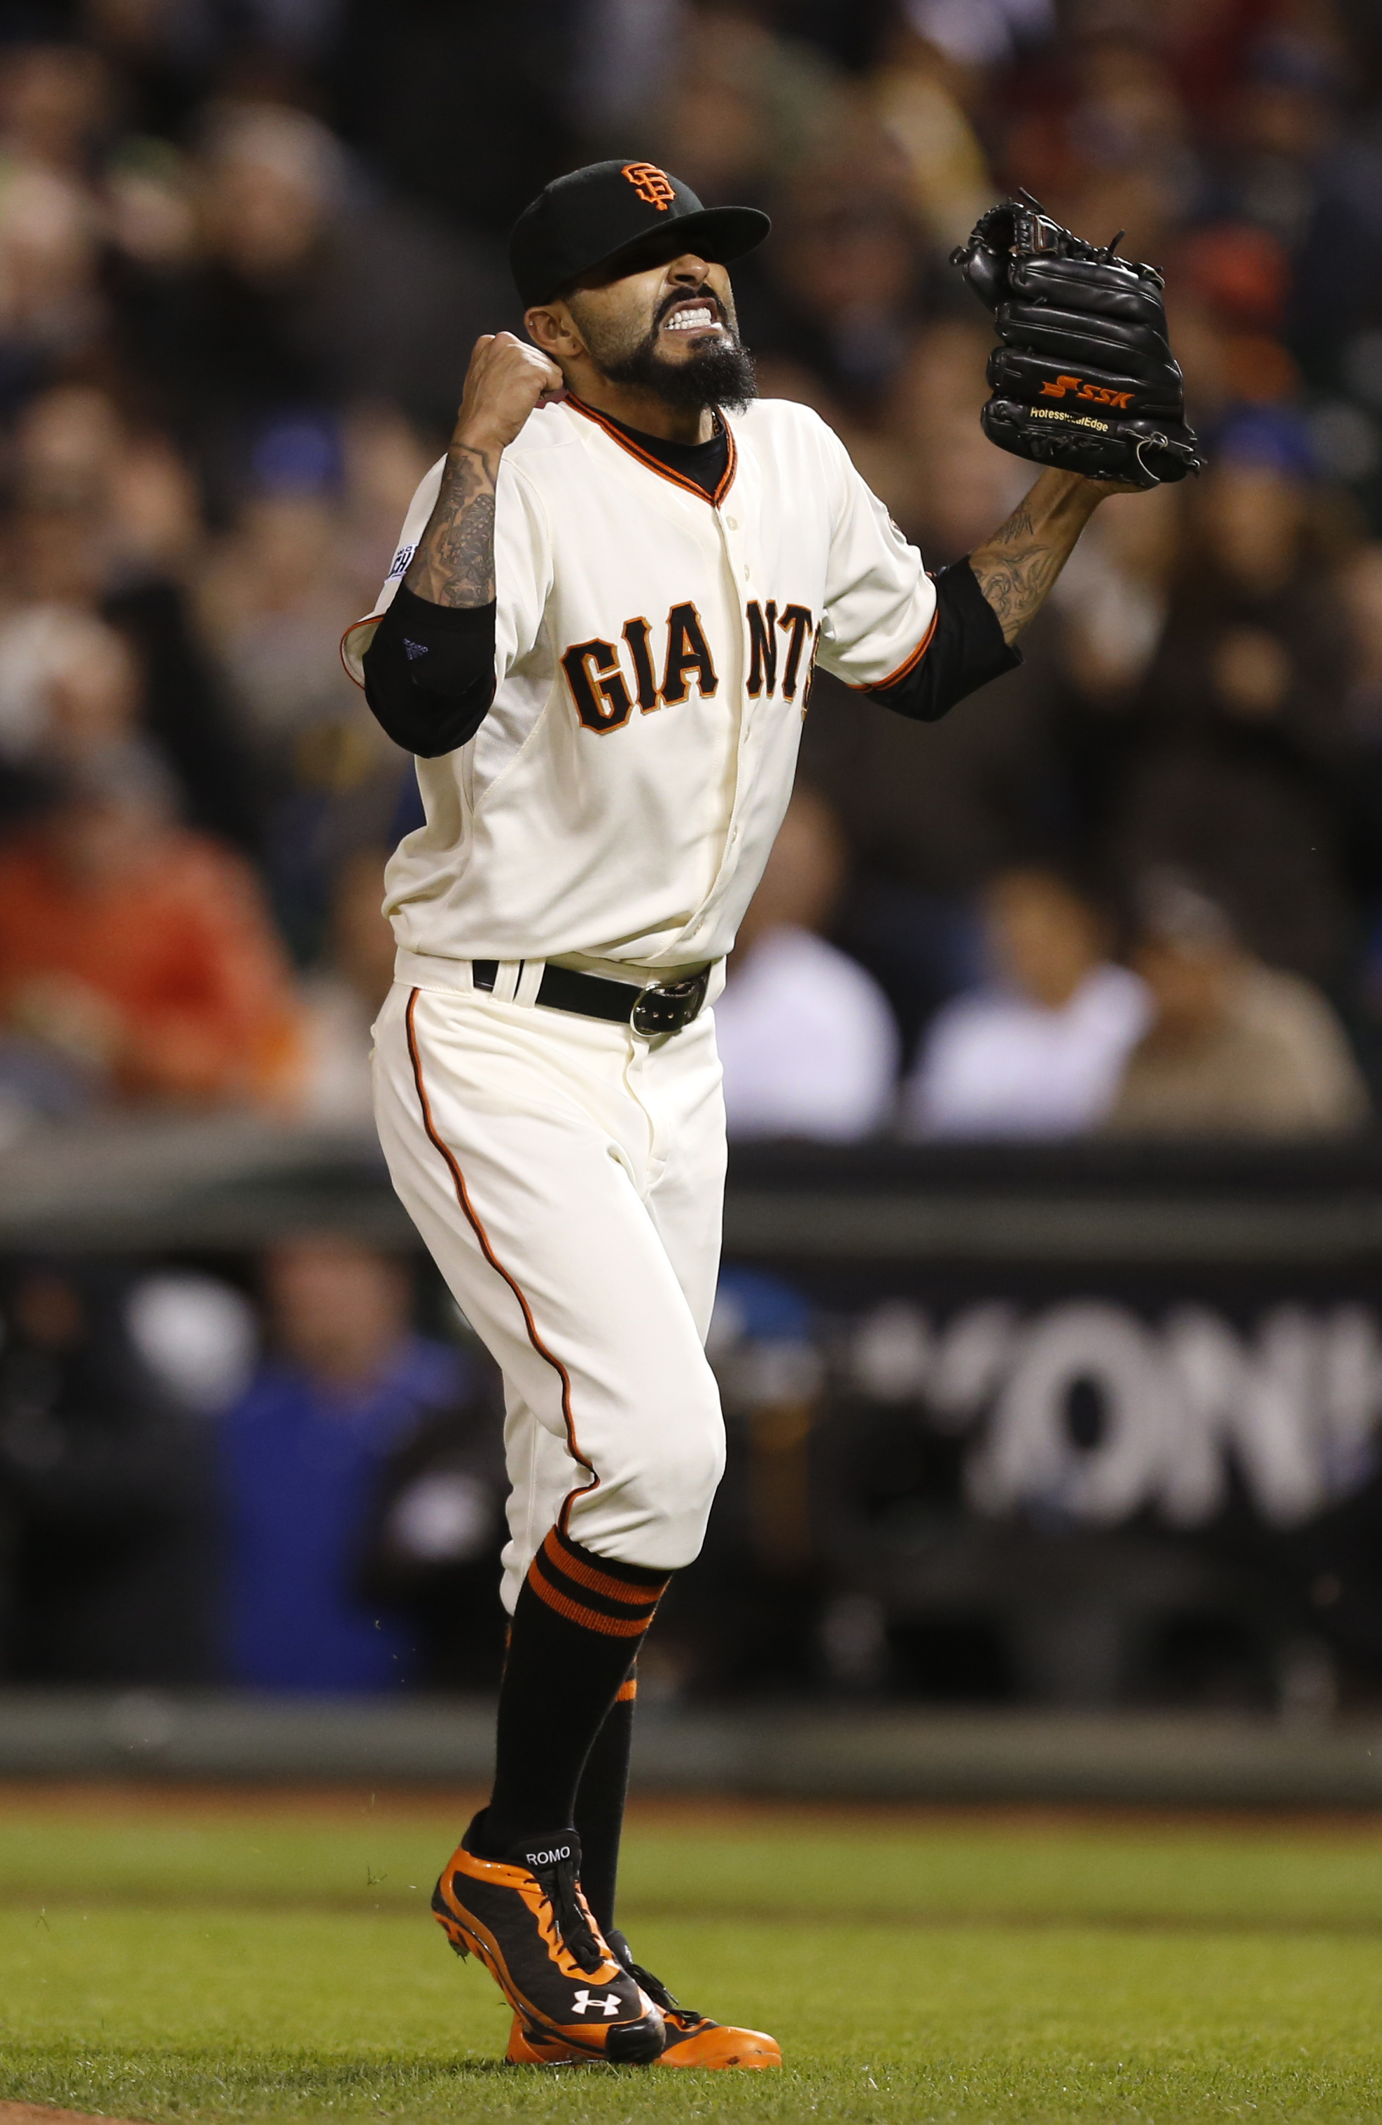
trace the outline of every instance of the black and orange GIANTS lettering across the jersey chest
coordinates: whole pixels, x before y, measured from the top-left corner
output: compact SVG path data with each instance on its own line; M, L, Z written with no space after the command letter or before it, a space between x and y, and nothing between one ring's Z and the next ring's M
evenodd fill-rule
M755 599L746 610L746 620L751 657L748 693L755 701L763 693L768 697L776 695L780 676L782 699L795 701L802 680L802 652L812 633L812 612L806 606L782 606L782 612L778 612L774 599L768 599L768 606L759 606ZM782 642L778 642L778 629L782 629ZM561 657L566 684L583 729L600 733L621 731L634 714L634 701L638 701L644 716L663 703L678 706L691 693L691 678L695 678L702 701L708 701L719 691L719 672L706 642L706 629L691 601L672 606L668 612L661 680L655 672L653 629L648 620L642 616L625 620L621 640L634 680L631 691L623 654L614 642L604 642L597 635L589 642L572 642ZM778 650L782 652L780 674Z

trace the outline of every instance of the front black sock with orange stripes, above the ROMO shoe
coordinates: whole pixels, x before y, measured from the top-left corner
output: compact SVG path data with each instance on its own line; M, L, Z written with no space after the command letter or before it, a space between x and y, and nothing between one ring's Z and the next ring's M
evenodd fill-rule
M597 1558L557 1528L538 1549L500 1683L489 1853L572 1823L585 1760L665 1585L668 1572Z

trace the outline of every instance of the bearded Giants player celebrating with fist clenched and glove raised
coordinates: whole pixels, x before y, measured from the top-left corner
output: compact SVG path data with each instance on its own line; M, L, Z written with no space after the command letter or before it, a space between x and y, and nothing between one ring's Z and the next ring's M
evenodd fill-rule
M806 406L759 400L727 266L768 236L646 162L549 185L349 669L417 754L374 1028L398 1194L506 1381L512 1617L489 1806L434 1910L510 2059L776 2066L614 1930L638 1647L725 1445L704 1337L712 1005L791 793L812 669L921 720L1018 663L1091 512L1197 468L1161 280L1048 221L957 253L984 429L1046 470L931 578Z

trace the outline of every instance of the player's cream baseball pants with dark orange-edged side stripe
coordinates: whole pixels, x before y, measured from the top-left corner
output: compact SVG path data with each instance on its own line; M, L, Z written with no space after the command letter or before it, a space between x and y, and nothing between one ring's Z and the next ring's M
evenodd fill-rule
M504 1606L553 1522L595 1556L689 1564L725 1466L706 1362L725 1107L714 1022L657 1041L415 954L374 1026L393 1186L504 1373ZM468 978L457 967L457 978ZM508 999L508 1001L506 1001Z

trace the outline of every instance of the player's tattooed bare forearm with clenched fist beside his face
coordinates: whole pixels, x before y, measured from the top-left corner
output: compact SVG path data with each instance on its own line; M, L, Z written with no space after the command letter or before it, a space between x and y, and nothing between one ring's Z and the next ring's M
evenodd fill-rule
M493 604L493 491L500 457L561 370L512 332L476 340L446 450L442 491L404 584L432 606Z

